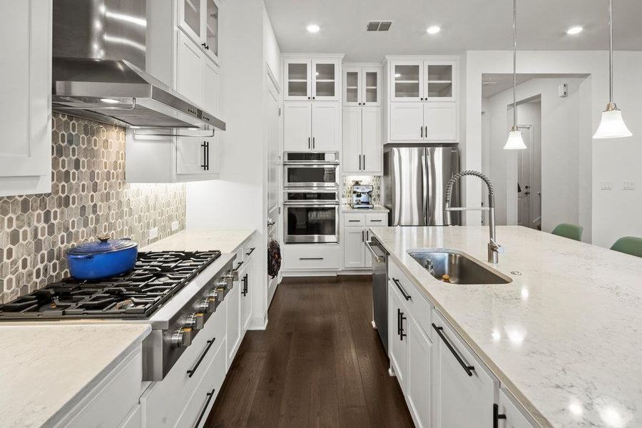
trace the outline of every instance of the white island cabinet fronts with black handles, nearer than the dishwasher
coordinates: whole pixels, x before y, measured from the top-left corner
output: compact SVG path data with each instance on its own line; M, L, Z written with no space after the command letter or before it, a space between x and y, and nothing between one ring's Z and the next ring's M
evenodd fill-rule
M390 370L415 426L539 426L392 260L388 277Z

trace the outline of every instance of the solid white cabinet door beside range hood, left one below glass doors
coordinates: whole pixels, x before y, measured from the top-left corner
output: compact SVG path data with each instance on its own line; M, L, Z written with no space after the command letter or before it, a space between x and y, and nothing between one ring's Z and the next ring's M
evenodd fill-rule
M203 104L203 51L178 31L176 90L197 106Z

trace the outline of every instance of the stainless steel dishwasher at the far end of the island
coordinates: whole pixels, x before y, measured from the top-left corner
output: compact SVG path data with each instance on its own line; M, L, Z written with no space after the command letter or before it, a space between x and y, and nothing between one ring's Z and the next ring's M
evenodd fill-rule
M374 328L388 353L388 252L377 238L370 238L366 247L372 255L372 317Z

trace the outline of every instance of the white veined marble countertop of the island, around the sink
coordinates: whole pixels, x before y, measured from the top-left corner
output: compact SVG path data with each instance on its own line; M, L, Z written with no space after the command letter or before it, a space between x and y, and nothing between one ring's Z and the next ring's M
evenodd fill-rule
M513 281L453 285L407 250L452 248L486 263L488 228L371 230L544 427L642 427L641 258L503 226L506 253L493 267Z

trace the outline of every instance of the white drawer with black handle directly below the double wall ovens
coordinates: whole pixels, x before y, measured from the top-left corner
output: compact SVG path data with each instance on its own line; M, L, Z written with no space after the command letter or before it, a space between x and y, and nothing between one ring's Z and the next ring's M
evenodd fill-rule
M284 245L284 266L287 270L339 269L339 253L339 244Z

